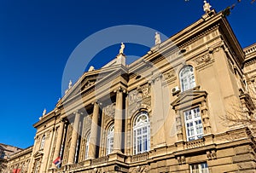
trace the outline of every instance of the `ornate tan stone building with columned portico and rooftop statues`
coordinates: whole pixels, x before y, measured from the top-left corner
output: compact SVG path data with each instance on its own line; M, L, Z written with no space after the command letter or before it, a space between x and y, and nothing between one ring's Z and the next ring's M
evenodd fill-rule
M241 49L214 10L159 42L131 65L123 48L84 72L9 171L29 154L23 172L255 172L253 132L225 118L253 117L256 45Z

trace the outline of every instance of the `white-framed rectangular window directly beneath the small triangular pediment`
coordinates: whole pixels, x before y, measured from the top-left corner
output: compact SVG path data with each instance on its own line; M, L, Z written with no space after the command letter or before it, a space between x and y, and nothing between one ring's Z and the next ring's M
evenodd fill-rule
M184 112L187 140L193 141L203 136L203 125L199 107Z

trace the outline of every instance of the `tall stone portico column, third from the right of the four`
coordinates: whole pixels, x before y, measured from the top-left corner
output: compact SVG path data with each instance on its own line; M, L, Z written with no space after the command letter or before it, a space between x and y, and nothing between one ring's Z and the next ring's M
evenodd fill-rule
M70 150L68 153L67 164L74 163L74 157L75 157L75 153L76 153L77 141L78 141L78 136L79 136L79 120L80 120L80 113L75 112L75 118L74 118L74 123L73 123L73 131L72 131L71 144L70 144Z

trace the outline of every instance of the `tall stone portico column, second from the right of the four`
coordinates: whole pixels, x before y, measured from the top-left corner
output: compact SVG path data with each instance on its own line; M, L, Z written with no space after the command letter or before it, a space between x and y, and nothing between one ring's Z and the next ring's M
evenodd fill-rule
M99 104L97 102L94 103L93 113L91 118L91 128L90 128L90 146L88 159L96 158L96 145L97 145L97 135L98 135L98 120L99 120Z

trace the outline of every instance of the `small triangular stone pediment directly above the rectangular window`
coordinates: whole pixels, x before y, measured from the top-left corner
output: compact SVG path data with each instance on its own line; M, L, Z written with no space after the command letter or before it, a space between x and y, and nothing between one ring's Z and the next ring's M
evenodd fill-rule
M189 107L204 101L207 97L207 91L204 90L188 90L178 95L175 101L172 101L171 105L173 109L181 107Z

